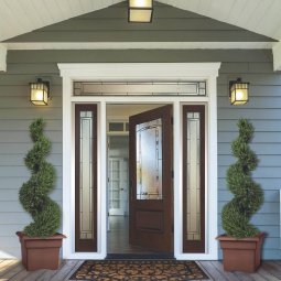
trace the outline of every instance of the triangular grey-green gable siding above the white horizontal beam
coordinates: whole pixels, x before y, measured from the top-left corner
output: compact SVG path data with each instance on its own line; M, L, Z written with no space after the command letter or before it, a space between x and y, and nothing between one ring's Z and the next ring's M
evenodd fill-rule
M128 24L127 1L9 42L268 42L272 39L155 2L151 24Z

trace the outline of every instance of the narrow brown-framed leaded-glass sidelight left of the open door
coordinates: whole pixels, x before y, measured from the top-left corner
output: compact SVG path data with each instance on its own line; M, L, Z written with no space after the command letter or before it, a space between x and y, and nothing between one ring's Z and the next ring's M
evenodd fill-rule
M97 107L75 107L75 249L97 248Z

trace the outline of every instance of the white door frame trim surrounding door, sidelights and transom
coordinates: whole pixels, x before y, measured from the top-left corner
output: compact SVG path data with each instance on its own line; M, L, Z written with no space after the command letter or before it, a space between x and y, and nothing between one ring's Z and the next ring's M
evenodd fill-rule
M106 105L172 104L174 110L174 256L176 259L217 259L217 90L220 63L97 63L58 64L63 77L63 241L65 259L104 259L107 256L107 160ZM145 82L206 80L207 96L191 97L95 97L74 96L74 80ZM97 252L75 252L74 105L98 105L98 247ZM206 105L206 252L182 251L182 104ZM177 145L176 145L177 144ZM180 149L179 149L180 148ZM102 191L102 192L101 192ZM179 212L180 210L180 212Z

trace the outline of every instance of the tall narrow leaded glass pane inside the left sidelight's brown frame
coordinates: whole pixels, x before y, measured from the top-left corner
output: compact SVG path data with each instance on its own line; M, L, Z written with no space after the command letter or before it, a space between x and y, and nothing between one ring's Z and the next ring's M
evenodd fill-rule
M93 214L93 112L80 112L80 239L94 236Z

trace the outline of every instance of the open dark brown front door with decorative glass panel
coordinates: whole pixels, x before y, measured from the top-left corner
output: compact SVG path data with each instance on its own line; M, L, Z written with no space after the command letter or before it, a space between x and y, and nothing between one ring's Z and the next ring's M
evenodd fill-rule
M172 106L131 116L129 123L130 244L172 252Z

